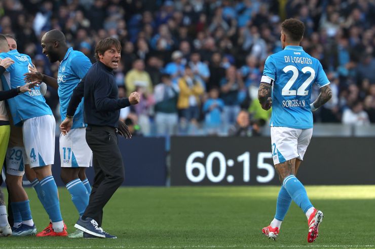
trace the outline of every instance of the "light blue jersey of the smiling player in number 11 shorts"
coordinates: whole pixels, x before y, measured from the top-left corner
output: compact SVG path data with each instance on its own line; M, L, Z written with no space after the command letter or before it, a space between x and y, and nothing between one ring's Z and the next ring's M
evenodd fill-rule
M69 105L73 89L80 83L81 79L86 75L91 67L91 62L87 56L80 51L73 50L69 47L66 51L64 59L60 63L59 72L57 74L57 83L59 84L58 94L60 98L61 121L65 119L66 110ZM74 128L85 127L84 122L84 98L77 108L73 117Z

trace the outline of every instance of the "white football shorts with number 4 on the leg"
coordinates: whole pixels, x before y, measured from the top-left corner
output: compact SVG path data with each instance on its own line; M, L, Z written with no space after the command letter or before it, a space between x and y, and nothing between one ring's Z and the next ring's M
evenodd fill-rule
M26 119L23 122L23 143L25 145L25 164L30 168L54 163L56 123L53 115Z

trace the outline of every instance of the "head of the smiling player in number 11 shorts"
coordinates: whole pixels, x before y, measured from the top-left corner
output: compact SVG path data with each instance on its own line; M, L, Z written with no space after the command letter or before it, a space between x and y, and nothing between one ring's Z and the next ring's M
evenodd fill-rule
M43 54L45 54L51 63L62 61L64 59L67 45L65 35L57 29L45 33L41 40Z

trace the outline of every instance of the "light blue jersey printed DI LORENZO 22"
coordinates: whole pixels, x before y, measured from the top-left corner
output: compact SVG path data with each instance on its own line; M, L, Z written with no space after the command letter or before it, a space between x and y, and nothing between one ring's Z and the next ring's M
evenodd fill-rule
M330 83L320 62L301 46L286 46L267 58L263 75L261 82L273 84L270 126L313 128L313 83L319 87Z

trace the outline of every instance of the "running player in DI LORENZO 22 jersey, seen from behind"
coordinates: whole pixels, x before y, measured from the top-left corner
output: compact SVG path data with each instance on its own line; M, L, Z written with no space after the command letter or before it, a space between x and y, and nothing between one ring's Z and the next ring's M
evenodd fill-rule
M282 183L276 204L276 215L270 226L262 229L276 239L291 201L306 214L309 231L307 240L314 242L323 213L311 204L304 185L295 177L313 133L312 111L332 96L329 80L320 62L307 54L299 43L305 25L296 19L281 24L280 51L267 58L258 90L263 109L272 107L271 143L274 165ZM313 84L320 87L315 102L310 103Z

